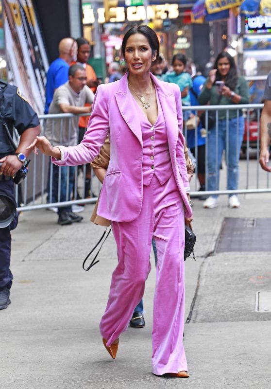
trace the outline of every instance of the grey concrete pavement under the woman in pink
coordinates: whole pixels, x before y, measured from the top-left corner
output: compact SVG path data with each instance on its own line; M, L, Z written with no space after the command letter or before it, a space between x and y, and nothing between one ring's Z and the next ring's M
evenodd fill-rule
M0 389L270 388L271 316L255 312L255 292L271 290L271 255L214 253L224 217L271 217L269 195L239 197L237 210L227 208L226 196L214 210L193 200L197 261L186 260L184 339L189 379L151 373L154 266L144 295L146 327L129 327L113 360L99 333L117 261L112 235L100 262L85 272L83 259L103 231L88 221L93 206L85 207L82 223L64 227L53 212L24 212L12 234L12 303L0 311Z

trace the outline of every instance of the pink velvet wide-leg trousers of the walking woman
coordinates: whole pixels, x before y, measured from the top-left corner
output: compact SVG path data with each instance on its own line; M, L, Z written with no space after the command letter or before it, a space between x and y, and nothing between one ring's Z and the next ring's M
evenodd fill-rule
M143 203L132 222L112 222L119 263L112 275L109 299L100 323L107 345L126 330L142 299L151 270L152 236L157 248L153 301L152 372L187 371L183 347L185 312L184 205L174 176L161 185L152 177L143 186Z

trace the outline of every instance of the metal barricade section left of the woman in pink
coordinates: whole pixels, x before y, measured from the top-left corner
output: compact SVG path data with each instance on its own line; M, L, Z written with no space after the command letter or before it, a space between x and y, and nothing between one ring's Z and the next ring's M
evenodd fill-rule
M80 116L89 116L84 114ZM78 143L79 131L78 131L78 120L79 115L73 114L48 114L39 115L39 120L42 127L42 134L45 135L45 129L47 126L51 126L51 138L54 139L57 131L59 132L60 142L66 141L70 143L73 132L72 128L76 126L76 141ZM86 130L86 128L85 128ZM56 136L56 139L58 136ZM57 142L58 143L58 142ZM53 164L49 157L44 156L41 152L38 156L34 153L31 154L31 162L29 165L29 173L22 184L15 186L15 195L17 204L19 207L18 211L32 211L36 209L46 209L52 207L63 207L72 204L86 204L95 203L97 201L97 195L101 189L101 184L93 172L91 177L91 195L90 198L85 198L85 176L86 176L86 165L81 167L75 167L75 173L73 177L70 177L70 167L60 167L59 169L53 169ZM63 169L67 170L66 173L66 196L65 200L61 199L61 172ZM53 174L58 176L58 186L53 187ZM79 182L79 184L78 184ZM72 187L72 199L69 200L69 186ZM80 188L79 188L80 187ZM65 188L64 188L65 190ZM95 194L93 194L95 192Z

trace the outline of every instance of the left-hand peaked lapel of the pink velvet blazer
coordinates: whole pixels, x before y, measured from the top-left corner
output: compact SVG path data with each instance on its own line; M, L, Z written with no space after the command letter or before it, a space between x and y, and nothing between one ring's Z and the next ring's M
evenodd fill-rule
M134 108L133 96L128 89L127 73L120 79L119 91L115 93L119 112L143 147L141 126Z

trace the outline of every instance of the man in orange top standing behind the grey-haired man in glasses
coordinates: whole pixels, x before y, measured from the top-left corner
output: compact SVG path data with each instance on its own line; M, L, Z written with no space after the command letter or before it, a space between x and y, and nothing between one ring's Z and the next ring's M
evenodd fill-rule
M91 88L93 93L96 92L96 89L99 84L101 84L100 80L97 80L96 73L92 66L90 66L87 61L90 55L90 45L85 38L77 38L76 39L78 45L78 53L77 53L77 63L83 65L86 71L86 85ZM72 62L70 65L74 65L76 62ZM87 104L86 104L87 105ZM85 130L87 127L89 116L81 116L79 118L79 142L84 138ZM91 167L89 164L85 165L85 197L90 196L90 185L91 185ZM83 168L83 165L82 165ZM84 195L84 194L83 194Z

